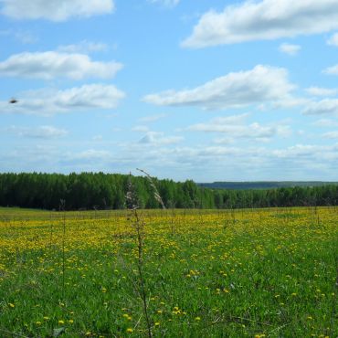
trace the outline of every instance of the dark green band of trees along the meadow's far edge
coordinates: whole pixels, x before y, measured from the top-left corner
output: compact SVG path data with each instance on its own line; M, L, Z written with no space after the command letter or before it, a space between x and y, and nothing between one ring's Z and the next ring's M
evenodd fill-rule
M167 208L338 205L338 185L235 190L152 180ZM0 206L58 209L64 200L68 210L123 209L131 186L139 207L161 207L147 177L103 173L0 174Z

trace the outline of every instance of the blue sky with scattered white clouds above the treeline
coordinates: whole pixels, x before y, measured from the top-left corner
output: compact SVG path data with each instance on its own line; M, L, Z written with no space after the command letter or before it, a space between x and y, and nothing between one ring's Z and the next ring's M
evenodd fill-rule
M1 173L338 180L338 0L0 0L0 40Z

